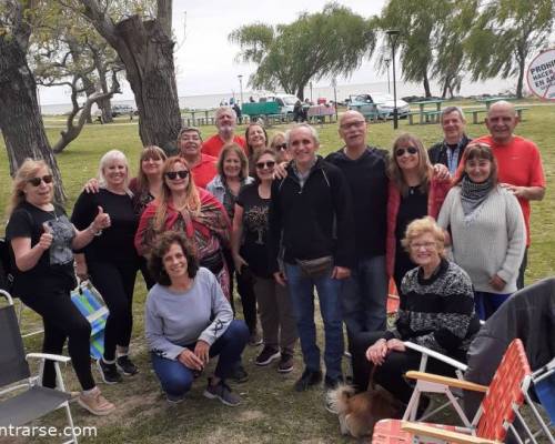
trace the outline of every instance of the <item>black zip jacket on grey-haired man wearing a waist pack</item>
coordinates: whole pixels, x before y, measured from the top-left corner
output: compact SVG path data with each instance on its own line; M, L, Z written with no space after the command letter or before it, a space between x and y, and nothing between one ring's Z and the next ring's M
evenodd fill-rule
M278 268L280 241L284 261L333 255L335 265L354 263L354 222L349 185L339 168L317 157L304 186L292 165L272 184L270 204L270 269ZM283 238L282 238L283 235Z

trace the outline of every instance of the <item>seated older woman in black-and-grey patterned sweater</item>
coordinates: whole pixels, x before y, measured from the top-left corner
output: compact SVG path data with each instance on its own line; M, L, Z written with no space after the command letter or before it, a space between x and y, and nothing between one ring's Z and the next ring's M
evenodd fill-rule
M480 330L480 320L474 310L471 279L444 258L444 242L443 230L432 218L408 224L402 244L418 266L403 278L401 287L405 297L401 300L395 326L382 333L367 332L355 340L354 376L359 387L367 384L370 361L379 366L375 381L401 402L408 402L412 387L403 376L418 369L421 355L407 350L403 341L465 361L468 345ZM451 366L433 359L427 370L454 375Z

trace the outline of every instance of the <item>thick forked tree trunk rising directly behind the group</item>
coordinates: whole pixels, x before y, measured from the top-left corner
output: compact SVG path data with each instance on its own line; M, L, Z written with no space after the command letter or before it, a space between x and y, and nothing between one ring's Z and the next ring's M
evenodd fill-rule
M98 0L80 0L82 13L120 57L139 111L144 145L176 152L181 114L171 38L172 1L158 0L157 16L139 14L115 22Z

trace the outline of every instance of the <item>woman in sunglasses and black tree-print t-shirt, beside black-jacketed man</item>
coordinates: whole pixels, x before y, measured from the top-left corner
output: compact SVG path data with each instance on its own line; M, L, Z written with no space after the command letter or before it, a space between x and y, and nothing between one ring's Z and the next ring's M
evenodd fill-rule
M296 323L287 289L275 282L268 256L268 215L275 152L262 149L254 153L255 183L239 193L233 218L232 251L235 270L249 273L254 282L264 347L256 365L280 359L278 371L293 370L293 349L297 337Z

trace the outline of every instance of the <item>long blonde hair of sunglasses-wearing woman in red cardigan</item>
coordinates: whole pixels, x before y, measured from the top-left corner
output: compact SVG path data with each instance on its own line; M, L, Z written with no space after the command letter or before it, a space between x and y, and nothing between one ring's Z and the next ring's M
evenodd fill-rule
M397 151L397 148L400 148L400 144L402 143L408 143L418 150L420 190L422 192L426 192L430 186L430 181L432 180L433 167L430 162L426 149L416 135L405 132L395 139L391 152L390 164L387 167L387 175L393 183L395 183L401 194L406 196L408 194L410 186L405 181L403 171L398 168L397 157L395 155L395 151Z

